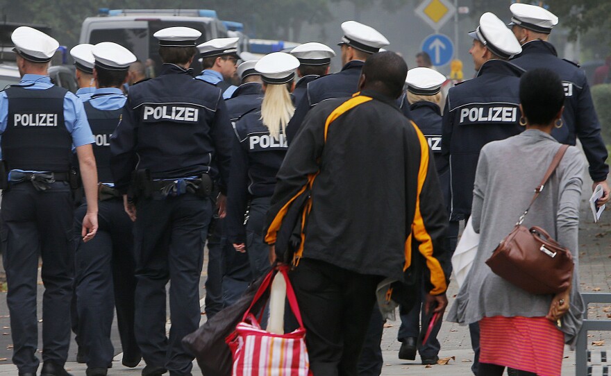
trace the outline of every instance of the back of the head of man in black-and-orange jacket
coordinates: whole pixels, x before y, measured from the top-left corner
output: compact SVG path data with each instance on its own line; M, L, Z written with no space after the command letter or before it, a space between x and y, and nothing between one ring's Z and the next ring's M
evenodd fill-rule
M408 65L401 56L392 51L374 53L363 65L359 88L399 98L407 76Z

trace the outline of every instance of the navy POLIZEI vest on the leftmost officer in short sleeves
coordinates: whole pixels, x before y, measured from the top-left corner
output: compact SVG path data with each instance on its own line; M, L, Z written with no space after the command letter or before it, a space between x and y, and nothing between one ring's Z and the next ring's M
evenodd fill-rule
M8 169L67 172L72 161L72 136L64 121L62 87L8 87L8 121L0 147Z

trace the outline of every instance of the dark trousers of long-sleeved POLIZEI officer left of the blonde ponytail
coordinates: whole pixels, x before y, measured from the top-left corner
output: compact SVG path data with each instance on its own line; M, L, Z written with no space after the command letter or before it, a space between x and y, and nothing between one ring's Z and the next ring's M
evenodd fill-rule
M212 200L194 194L165 200L142 198L134 224L136 339L148 366L190 375L194 357L181 340L199 327L199 278ZM165 335L170 281L171 329Z

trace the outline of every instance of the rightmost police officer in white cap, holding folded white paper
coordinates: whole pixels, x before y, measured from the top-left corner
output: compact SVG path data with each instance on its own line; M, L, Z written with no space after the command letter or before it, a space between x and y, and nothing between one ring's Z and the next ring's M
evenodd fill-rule
M599 198L599 204L609 200L607 175L609 166L607 148L601 137L601 123L596 116L592 95L585 76L585 71L569 60L558 58L553 44L548 42L553 26L558 24L558 17L539 6L515 3L510 6L512 12L511 28L522 45L522 52L516 55L512 63L525 69L546 67L555 71L564 85L564 102L562 123L551 135L562 144L575 145L579 137L583 152L589 163L589 175L596 185L602 185L605 195Z

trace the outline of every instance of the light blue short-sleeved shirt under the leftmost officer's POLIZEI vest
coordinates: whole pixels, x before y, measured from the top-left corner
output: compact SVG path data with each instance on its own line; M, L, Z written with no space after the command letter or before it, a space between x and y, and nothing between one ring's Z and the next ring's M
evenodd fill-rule
M40 74L24 75L19 85L31 85L24 87L24 89L28 90L44 90L53 86L49 76L41 76ZM0 92L0 137L6 129L7 120L8 97L6 92ZM94 142L94 137L87 121L87 115L85 114L85 108L83 108L83 102L71 92L67 92L64 97L64 121L66 129L72 136L73 148ZM1 157L2 151L0 150L0 159Z

